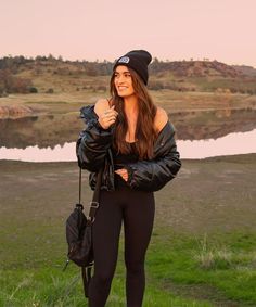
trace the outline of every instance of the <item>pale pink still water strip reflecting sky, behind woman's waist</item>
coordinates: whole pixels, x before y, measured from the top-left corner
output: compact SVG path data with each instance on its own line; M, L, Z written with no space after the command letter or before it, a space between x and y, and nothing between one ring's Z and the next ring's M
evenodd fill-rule
M218 139L177 140L181 158L205 158L220 155L256 153L256 129L248 132L229 133ZM25 149L0 148L0 159L24 162L64 162L76 161L75 142L52 148Z

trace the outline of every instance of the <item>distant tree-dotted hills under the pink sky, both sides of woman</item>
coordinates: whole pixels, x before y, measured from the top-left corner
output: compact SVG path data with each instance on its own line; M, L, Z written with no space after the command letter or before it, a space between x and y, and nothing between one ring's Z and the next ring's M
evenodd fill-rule
M63 61L52 55L0 59L0 95L20 92L106 91L112 62ZM151 90L256 94L256 69L218 61L159 61L150 65Z

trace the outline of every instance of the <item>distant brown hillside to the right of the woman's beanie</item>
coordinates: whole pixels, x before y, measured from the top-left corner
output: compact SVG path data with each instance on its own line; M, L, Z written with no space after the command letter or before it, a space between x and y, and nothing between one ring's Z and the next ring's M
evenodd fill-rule
M256 69L253 67L245 69L218 61L154 61L151 72L150 86L154 90L256 94Z

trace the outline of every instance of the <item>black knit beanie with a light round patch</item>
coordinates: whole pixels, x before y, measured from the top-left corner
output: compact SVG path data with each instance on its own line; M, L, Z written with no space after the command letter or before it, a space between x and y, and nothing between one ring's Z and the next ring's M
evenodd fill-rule
M127 66L136 71L136 73L141 77L143 82L146 85L149 79L148 65L150 64L152 56L148 51L132 50L116 61L113 71L115 71L115 68L119 65Z

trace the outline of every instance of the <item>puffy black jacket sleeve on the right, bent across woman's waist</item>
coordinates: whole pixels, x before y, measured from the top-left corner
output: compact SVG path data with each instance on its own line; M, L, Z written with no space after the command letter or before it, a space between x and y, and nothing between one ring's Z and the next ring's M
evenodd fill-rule
M157 152L153 159L127 165L128 184L132 189L157 191L174 179L179 171L181 161L171 125L167 127L167 137L162 137L157 143Z

